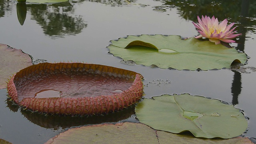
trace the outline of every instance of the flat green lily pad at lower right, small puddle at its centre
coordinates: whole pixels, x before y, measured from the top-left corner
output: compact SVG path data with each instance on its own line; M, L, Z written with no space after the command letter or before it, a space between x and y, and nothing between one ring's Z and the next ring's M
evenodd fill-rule
M233 138L248 126L242 112L234 106L190 94L144 99L135 107L135 112L141 123L156 130L190 131L202 138Z

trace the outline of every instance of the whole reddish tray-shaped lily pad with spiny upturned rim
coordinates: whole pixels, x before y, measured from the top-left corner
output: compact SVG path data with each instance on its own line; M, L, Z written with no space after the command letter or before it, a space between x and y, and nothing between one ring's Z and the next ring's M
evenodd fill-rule
M126 108L142 97L142 75L83 63L40 63L17 72L8 83L12 100L50 114L103 114Z

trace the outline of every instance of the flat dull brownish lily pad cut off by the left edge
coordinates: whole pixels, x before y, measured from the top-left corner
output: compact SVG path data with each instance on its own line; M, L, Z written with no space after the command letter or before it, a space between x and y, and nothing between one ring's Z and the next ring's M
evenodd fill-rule
M22 50L0 44L0 64L0 89L3 89L6 88L6 82L10 76L22 68L32 65L32 59Z

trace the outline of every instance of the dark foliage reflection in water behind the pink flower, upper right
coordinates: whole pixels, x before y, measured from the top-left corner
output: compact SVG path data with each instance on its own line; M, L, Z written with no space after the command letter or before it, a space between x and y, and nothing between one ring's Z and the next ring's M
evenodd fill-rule
M255 0L161 0L166 9L177 8L178 14L186 19L197 21L197 16L215 16L218 20L228 18L229 22L240 24L248 31L256 31L256 1ZM238 28L239 29L239 28Z

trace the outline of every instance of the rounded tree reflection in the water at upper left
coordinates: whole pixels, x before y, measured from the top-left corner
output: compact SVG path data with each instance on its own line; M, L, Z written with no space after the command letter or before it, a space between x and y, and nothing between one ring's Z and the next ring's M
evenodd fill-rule
M44 34L53 37L76 35L86 28L82 16L74 16L74 7L69 2L59 4L27 4L31 19L42 26Z

